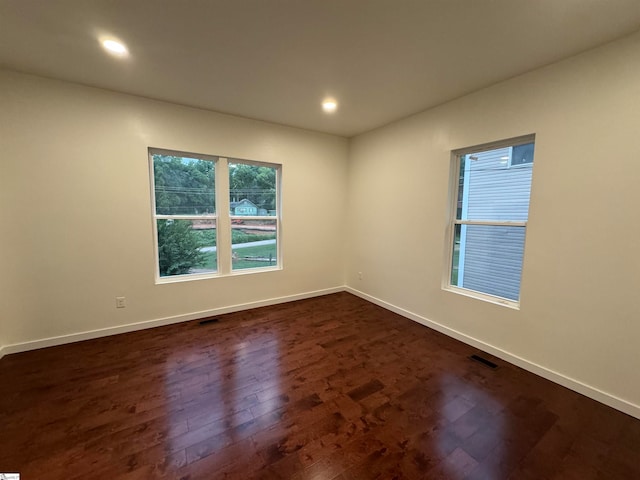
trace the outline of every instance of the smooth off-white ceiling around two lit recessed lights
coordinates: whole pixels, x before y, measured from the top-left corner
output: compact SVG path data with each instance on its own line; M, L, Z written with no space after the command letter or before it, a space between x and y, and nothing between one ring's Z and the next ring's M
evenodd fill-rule
M350 137L638 29L640 0L0 0L0 66Z

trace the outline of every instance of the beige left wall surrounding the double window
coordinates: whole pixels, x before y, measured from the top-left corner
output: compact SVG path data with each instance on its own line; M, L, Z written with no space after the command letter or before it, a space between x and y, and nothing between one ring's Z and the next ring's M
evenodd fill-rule
M0 345L344 285L347 140L9 72L0 105ZM149 146L281 163L284 270L155 285Z

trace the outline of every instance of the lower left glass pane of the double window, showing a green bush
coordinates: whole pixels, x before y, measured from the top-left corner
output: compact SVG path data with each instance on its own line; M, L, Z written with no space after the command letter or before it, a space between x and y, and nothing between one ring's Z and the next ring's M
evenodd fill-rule
M160 276L218 269L215 220L157 220Z

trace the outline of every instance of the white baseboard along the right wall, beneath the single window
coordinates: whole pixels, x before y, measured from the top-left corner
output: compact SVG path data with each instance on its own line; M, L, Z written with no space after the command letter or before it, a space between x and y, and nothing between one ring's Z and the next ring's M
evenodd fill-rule
M598 388L582 383L579 380L575 380L559 372L550 370L546 367L530 362L522 357L509 353L498 347L494 347L493 345L490 345L481 340L470 337L469 335L466 335L462 332L459 332L457 330L441 325L437 322L429 320L428 318L422 317L416 313L397 307L391 303L385 302L384 300L380 300L379 298L372 297L371 295L368 295L354 288L345 287L345 290L364 300L367 300L371 303L375 303L376 305L386 310L390 310L394 313L402 315L405 318L413 320L426 327L432 328L449 337L455 338L456 340L460 340L461 342L466 343L467 345L471 345L487 353L490 353L491 355L501 358L502 360L512 363L513 365L516 365L524 370L535 373L536 375L546 378L547 380L550 380L554 383L562 385L563 387L567 387L570 390L581 393L582 395L592 398L593 400L596 400L600 403L604 403L605 405L615 408L616 410L620 410L621 412L631 415L632 417L640 419L640 405L636 405L634 403L628 402L627 400L616 397L615 395L612 395Z

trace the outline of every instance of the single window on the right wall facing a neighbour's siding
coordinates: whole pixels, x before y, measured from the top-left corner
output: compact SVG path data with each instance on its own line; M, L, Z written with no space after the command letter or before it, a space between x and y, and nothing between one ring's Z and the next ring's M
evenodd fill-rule
M517 305L534 136L456 150L445 288Z

